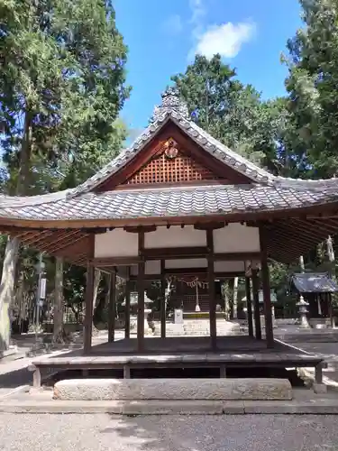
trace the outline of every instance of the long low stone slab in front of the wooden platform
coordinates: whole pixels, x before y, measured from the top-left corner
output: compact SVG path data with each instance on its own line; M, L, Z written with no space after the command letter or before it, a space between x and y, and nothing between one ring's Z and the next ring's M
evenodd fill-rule
M55 400L292 400L286 379L72 379Z

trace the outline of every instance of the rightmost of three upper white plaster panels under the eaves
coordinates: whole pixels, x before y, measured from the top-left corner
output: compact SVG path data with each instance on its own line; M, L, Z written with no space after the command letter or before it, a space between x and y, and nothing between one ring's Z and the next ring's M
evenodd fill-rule
M215 253L260 252L260 233L258 227L229 224L214 230Z

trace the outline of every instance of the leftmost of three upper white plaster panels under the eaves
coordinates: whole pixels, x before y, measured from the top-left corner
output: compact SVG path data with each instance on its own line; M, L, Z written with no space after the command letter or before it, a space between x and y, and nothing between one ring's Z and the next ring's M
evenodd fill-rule
M116 228L95 236L95 256L136 257L139 254L139 236Z

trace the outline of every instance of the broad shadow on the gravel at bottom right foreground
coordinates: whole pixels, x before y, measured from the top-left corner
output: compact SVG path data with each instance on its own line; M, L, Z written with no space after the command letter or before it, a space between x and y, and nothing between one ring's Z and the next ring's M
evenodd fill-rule
M337 449L337 431L324 417L292 415L111 416L102 435L122 437L137 451L314 451Z

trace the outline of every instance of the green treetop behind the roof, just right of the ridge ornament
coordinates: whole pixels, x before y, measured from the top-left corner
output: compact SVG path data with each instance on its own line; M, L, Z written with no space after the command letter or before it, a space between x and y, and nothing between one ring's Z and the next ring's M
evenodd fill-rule
M189 113L200 127L244 157L279 173L279 137L284 102L264 102L251 85L244 86L220 55L196 56L184 74L172 77Z

